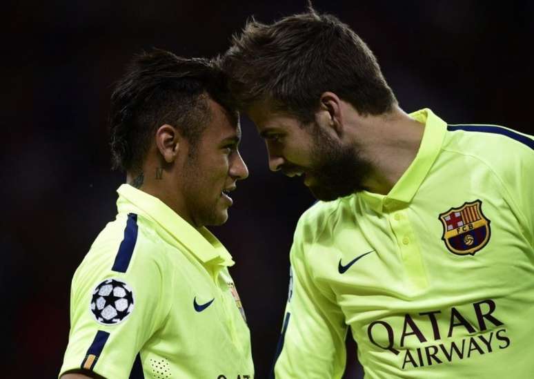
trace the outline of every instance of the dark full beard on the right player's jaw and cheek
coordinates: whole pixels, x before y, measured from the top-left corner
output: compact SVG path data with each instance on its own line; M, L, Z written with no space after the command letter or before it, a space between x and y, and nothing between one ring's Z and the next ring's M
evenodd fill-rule
M357 146L343 146L317 124L313 124L312 164L306 175L313 177L310 191L318 200L329 202L364 190L370 164Z

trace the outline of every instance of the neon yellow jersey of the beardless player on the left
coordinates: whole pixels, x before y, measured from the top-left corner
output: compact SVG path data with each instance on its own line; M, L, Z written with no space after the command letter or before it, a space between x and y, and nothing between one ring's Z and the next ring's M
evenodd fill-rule
M250 333L224 246L123 184L117 220L74 278L60 373L120 378L253 378Z

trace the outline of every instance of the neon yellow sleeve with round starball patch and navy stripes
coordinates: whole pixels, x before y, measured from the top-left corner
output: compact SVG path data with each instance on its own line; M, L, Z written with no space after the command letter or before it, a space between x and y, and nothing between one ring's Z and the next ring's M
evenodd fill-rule
M168 314L172 278L162 275L164 262L153 244L128 241L128 226L120 244L103 232L99 239L104 241L93 244L72 279L70 334L60 376L85 369L104 378L130 377L141 347Z

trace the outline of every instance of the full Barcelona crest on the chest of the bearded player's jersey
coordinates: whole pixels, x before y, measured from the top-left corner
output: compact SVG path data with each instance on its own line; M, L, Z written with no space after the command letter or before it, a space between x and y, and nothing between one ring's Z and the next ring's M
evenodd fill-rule
M447 249L458 255L475 255L488 243L490 220L482 213L482 201L465 202L439 215Z

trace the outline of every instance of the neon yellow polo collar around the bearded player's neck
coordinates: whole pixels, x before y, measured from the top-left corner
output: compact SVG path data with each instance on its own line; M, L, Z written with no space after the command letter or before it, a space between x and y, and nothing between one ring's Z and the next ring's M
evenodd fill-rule
M434 164L445 137L447 124L437 117L432 110L424 108L410 113L410 116L425 124L423 139L415 159L395 183L395 186L391 188L388 195L362 191L362 200L378 213L382 213L384 210L392 211L396 208L403 208L411 202Z

